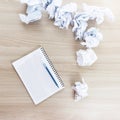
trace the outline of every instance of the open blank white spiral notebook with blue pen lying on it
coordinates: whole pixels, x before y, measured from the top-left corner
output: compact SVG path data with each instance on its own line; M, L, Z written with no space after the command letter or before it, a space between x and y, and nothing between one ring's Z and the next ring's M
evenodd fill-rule
M12 65L35 104L64 88L63 81L43 47L18 59Z

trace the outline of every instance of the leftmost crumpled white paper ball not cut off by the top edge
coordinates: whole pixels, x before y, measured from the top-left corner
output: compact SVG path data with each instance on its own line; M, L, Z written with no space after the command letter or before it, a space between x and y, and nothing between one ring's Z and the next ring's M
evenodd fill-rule
M70 3L58 8L55 13L54 25L58 26L61 29L68 29L68 26L70 25L72 20L73 13L76 12L76 10L77 5L75 3Z

